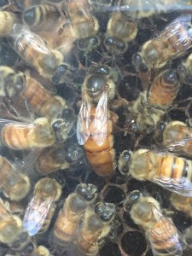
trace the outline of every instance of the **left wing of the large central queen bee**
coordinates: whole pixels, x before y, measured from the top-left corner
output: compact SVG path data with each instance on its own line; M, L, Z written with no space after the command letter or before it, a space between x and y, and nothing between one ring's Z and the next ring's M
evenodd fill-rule
M77 138L80 145L83 145L90 137L90 103L83 101L77 121Z

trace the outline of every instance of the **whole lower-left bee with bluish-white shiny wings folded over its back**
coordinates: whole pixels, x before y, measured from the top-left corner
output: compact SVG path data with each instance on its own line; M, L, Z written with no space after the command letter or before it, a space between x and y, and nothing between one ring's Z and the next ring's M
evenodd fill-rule
M48 230L55 212L55 201L58 201L60 196L61 185L55 179L44 177L38 181L23 218L23 229L27 230L30 236Z

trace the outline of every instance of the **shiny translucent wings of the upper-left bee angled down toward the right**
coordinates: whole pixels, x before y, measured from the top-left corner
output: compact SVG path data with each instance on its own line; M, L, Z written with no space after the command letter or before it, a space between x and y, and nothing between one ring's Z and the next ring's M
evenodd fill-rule
M23 40L25 41L25 44L23 44ZM25 51L26 44L30 44L32 49L35 49L41 54L54 55L46 47L46 44L42 38L38 37L35 33L28 30L25 26L17 23L13 26L13 30L8 37L8 41L13 48L20 49L20 52Z

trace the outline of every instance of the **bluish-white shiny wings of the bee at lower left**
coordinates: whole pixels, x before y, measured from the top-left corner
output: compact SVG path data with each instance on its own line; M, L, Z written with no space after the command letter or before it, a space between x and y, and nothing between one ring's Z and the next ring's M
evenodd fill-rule
M26 213L23 218L23 229L27 230L30 236L36 235L41 230L53 201L53 195L49 196L45 201L41 201L37 195L32 197L32 201L26 207Z

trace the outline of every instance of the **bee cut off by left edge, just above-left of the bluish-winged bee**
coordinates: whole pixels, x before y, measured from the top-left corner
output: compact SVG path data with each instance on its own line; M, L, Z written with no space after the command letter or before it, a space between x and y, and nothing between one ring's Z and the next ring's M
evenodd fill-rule
M20 201L29 192L30 181L27 176L18 172L16 166L0 155L0 187L3 194L11 201Z

